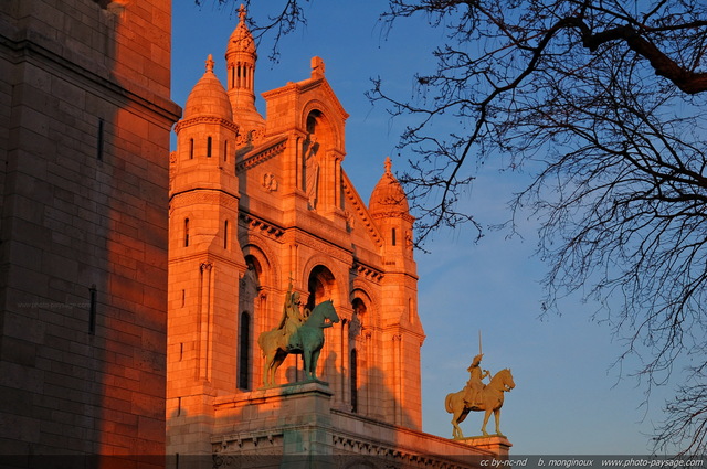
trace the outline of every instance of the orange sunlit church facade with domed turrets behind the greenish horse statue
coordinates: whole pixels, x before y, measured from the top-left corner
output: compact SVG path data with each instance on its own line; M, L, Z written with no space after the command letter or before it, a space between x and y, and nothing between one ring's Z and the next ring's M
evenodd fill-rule
M498 452L420 431L424 332L405 194L390 160L370 202L357 193L341 168L348 115L320 58L309 77L264 93L258 114L244 14L225 44L226 86L209 55L175 128L168 454L228 466L366 448L414 460ZM281 323L291 284L307 308L331 299L341 318L319 359L328 385L263 390L257 338ZM288 356L277 383L299 382L300 369Z

